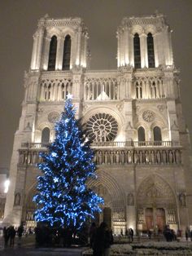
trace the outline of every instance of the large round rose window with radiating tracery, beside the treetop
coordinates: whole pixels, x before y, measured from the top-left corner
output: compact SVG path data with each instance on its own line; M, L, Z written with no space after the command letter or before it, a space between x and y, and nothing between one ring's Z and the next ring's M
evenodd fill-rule
M118 123L114 117L107 113L98 113L86 123L87 135L90 139L103 142L116 138Z

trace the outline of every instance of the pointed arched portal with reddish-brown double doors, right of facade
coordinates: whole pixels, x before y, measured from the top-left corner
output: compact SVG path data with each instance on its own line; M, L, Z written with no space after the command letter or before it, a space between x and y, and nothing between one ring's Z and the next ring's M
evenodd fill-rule
M163 232L166 224L177 229L176 198L164 179L151 175L137 190L137 228Z

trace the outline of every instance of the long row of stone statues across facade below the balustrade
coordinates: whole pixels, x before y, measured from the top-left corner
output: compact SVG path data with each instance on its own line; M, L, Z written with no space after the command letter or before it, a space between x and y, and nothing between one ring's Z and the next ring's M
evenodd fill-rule
M20 150L19 165L35 165L42 161L37 151ZM94 156L98 165L113 164L181 164L181 151L175 150L98 150Z

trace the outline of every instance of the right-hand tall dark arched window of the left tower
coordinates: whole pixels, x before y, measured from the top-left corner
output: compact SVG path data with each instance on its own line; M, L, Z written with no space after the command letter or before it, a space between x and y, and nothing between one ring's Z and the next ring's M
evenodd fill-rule
M67 35L64 39L64 46L63 46L63 70L70 69L70 60L71 60L71 44L72 40L69 35Z

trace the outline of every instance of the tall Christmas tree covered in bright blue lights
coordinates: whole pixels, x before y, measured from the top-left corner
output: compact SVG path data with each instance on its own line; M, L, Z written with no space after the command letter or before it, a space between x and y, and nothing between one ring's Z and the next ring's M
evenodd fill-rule
M81 122L75 118L71 96L55 125L55 141L42 153L37 177L37 222L51 227L78 230L89 218L100 212L103 199L87 187L95 179L94 152L89 147Z

